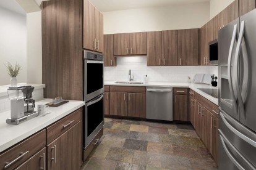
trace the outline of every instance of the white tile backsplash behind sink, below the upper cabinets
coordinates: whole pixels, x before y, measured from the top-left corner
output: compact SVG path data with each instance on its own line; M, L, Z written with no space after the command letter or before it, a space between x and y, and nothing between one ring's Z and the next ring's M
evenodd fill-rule
M187 82L197 73L218 75L217 66L147 66L147 57L117 57L116 67L105 67L105 81L127 81L128 72L132 70L134 81Z

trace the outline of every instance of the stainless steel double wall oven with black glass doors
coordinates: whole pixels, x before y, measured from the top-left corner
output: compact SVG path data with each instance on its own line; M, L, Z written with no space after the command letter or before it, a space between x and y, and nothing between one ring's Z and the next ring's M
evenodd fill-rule
M104 125L103 54L83 51L84 147Z

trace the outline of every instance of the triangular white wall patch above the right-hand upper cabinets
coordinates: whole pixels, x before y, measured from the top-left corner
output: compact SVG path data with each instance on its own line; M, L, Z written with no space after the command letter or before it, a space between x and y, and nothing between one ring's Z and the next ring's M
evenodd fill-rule
M234 0L210 0L210 19L215 17Z

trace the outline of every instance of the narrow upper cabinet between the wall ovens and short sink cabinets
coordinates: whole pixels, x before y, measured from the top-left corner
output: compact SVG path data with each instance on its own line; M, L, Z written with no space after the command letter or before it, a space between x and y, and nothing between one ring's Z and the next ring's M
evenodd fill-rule
M114 34L104 35L104 66L116 66L116 57L114 57Z

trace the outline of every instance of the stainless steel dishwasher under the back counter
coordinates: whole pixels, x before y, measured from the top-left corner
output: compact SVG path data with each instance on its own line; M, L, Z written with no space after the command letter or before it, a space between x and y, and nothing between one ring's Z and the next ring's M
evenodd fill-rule
M173 121L173 87L147 87L146 118Z

